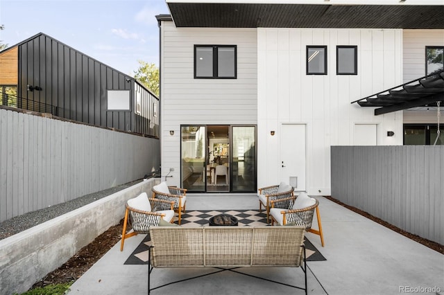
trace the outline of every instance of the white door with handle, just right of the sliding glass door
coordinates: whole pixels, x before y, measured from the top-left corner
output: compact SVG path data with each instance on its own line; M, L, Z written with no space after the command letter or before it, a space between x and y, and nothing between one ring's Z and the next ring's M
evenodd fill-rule
M305 190L305 124L282 124L280 134L280 179Z

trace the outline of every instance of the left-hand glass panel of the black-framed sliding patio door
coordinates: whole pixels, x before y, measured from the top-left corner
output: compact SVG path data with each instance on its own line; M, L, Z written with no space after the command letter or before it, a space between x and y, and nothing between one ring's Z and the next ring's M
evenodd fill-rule
M206 186L205 126L181 126L181 187L189 192L203 192Z

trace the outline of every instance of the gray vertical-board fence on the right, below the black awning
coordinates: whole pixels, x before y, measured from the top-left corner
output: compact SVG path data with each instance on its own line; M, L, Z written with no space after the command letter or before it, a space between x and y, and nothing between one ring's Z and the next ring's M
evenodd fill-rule
M332 197L444 244L444 145L332 146Z

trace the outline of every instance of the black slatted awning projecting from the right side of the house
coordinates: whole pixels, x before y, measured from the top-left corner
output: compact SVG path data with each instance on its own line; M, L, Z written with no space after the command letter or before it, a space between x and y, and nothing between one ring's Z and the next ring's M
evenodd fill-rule
M444 102L444 71L375 93L357 102L361 107L377 107L375 116L412 107L435 106Z

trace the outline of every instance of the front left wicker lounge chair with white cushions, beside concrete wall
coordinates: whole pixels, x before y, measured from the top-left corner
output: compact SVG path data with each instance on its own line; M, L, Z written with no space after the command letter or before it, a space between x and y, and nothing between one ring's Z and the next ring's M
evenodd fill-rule
M120 251L123 251L125 239L137 235L137 233L148 233L150 226L159 225L161 219L173 222L173 204L173 202L167 202L162 199L148 199L146 193L142 193L133 199L128 199L123 220ZM133 226L133 231L130 233L126 233L128 222Z

